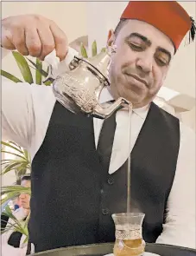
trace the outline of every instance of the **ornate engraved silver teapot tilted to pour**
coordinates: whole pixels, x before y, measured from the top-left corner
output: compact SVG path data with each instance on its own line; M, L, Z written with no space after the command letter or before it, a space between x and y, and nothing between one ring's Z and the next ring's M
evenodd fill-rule
M115 46L108 46L105 52L89 59L74 56L69 70L56 78L53 77L52 66L49 66L47 80L52 80L54 95L66 109L74 114L105 119L130 104L124 98L118 98L109 107L99 103L99 96L104 87L110 86L109 68L111 54Z

